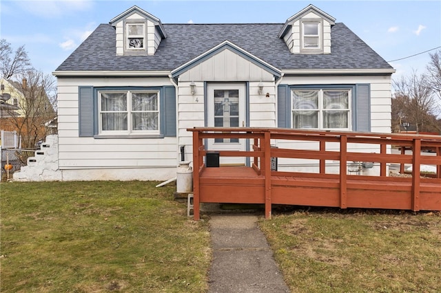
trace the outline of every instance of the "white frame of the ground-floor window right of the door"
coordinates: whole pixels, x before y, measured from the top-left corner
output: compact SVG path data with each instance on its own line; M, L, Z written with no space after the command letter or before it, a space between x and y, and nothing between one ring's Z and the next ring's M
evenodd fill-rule
M294 109L294 91L318 91L318 109ZM347 110L347 128L324 128L323 127L323 112L325 110L329 111L330 109L325 109L323 107L323 91L347 91L348 98L348 108L347 109L338 109L336 111ZM352 129L352 105L351 105L351 89L339 89L339 88L326 88L323 87L321 89L291 89L291 129L294 129L294 119L292 119L293 113L296 111L318 111L318 128L311 128L311 130L338 130L338 131L351 131ZM331 110L332 111L332 110Z

